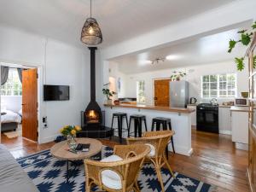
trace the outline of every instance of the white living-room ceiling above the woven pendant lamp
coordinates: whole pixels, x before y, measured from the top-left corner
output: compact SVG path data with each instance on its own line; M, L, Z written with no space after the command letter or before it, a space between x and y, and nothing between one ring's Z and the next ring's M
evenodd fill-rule
M236 0L92 0L92 16L102 27L102 47ZM81 45L81 27L90 15L90 0L1 0L0 25Z

